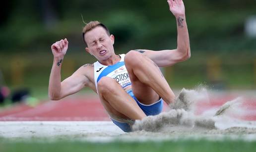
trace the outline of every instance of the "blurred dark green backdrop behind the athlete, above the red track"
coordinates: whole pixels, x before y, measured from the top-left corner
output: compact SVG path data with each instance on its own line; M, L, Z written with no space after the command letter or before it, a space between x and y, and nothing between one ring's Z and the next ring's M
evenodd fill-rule
M255 90L256 0L184 3L192 56L162 69L170 86ZM4 0L0 5L1 96L13 101L15 93L18 99L30 95L48 100L50 47L60 39L69 41L62 79L93 63L95 58L85 52L82 41L81 16L85 22L99 20L110 29L117 53L177 47L176 20L166 0Z

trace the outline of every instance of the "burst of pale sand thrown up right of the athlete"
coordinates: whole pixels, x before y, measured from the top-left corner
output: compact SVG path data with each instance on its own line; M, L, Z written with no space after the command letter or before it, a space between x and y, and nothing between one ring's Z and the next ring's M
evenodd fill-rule
M236 127L256 128L256 122L237 119L247 111L246 107L243 106L243 98L227 101L218 108L208 109L202 114L196 115L195 109L199 102L209 102L206 88L182 89L176 101L169 105L171 110L136 120L132 130L170 132L221 130Z

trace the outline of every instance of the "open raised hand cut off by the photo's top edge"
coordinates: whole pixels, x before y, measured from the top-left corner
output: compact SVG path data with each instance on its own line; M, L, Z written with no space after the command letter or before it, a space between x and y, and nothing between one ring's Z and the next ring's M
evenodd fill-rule
M182 0L167 0L170 11L175 17L185 15L185 6Z

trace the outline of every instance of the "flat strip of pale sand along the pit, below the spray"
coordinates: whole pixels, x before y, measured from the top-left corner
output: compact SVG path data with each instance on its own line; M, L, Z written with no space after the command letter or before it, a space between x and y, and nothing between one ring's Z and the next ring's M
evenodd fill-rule
M251 124L255 125L255 124ZM53 141L82 140L90 142L159 141L178 139L226 138L256 141L256 128L230 127L227 129L206 129L168 126L159 132L135 131L125 133L111 121L15 121L0 122L0 137L11 140Z

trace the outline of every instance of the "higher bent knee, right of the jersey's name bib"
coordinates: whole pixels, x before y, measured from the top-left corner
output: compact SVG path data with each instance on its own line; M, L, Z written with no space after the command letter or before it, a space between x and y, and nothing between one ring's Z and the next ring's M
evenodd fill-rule
M142 61L143 57L144 56L137 51L133 51L133 50L129 51L125 56L126 66L139 64Z

